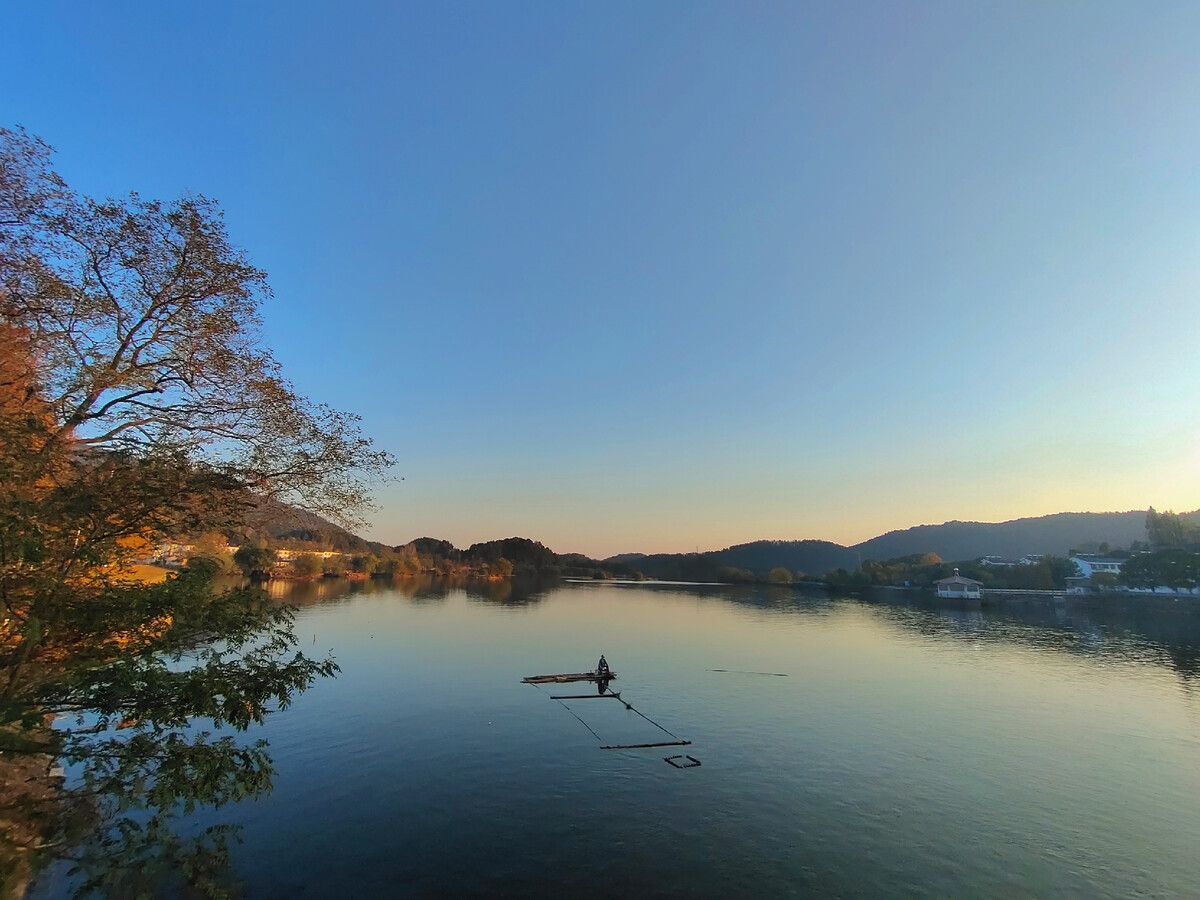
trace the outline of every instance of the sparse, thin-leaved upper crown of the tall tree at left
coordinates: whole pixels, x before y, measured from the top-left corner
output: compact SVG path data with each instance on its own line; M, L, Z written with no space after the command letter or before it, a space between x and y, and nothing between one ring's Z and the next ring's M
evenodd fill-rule
M390 457L299 396L259 343L266 275L196 196L95 200L0 131L0 314L26 329L50 443L181 452L258 497L354 522Z

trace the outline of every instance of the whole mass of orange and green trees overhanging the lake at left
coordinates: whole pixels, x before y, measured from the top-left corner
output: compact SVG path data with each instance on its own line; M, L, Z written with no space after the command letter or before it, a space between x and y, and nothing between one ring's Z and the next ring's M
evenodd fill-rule
M245 730L336 671L203 560L116 577L137 542L228 530L264 498L354 522L390 464L282 377L269 295L212 200L95 200L0 130L0 718L79 767L85 889L217 890L224 833L182 841L169 818L268 790L271 766L196 724ZM54 713L86 725L49 734Z

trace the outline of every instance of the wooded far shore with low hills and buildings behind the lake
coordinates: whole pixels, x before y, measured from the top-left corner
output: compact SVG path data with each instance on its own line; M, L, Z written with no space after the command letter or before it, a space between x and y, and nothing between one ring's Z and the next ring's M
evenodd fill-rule
M235 551L228 541L240 546ZM872 547L908 552L868 556L864 551ZM1007 560L995 552L1012 553L1013 547L1024 552ZM1058 514L1002 523L948 522L892 532L854 547L816 540L755 541L703 553L626 553L594 559L556 553L528 538L466 548L437 538L391 546L359 538L312 512L276 506L258 510L235 533L209 535L190 550L228 571L240 568L256 577L550 576L810 583L835 590L930 587L955 570L982 582L985 589L1063 590L1068 580L1079 582L1080 571L1070 557L1084 553L1122 560L1122 577L1097 574L1082 584L1088 590L1176 589L1200 583L1200 512L1176 515L1151 509Z

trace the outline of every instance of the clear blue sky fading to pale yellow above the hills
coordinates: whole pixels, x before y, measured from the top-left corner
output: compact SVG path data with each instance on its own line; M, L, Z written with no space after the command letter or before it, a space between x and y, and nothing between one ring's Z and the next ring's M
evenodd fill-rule
M1200 508L1200 5L6 8L0 125L216 198L367 536Z

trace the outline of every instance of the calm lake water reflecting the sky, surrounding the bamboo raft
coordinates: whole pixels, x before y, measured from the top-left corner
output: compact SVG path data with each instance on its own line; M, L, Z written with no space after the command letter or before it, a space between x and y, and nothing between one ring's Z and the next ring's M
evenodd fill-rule
M263 730L275 792L220 811L246 896L1200 894L1194 614L318 587L298 632L342 674ZM690 748L600 750L665 736L520 683L601 652Z

